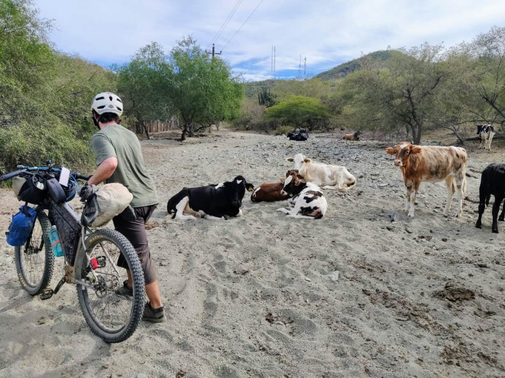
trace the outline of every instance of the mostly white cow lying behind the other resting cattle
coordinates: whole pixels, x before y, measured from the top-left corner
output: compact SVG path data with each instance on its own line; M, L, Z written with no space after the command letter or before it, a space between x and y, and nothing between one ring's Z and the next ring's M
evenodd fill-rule
M340 165L318 163L302 154L296 154L294 158L286 160L294 162L294 169L308 182L322 186L323 189L347 190L356 185L356 177Z

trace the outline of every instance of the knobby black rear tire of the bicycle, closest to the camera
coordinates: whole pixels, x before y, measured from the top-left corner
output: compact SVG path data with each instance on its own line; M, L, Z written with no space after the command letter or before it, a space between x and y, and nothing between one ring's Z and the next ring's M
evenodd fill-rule
M84 249L79 250L75 260L75 278L77 280L89 282L87 278L89 279L89 277L91 277L92 274L90 273L91 272L90 268L88 268L87 254L89 254L92 257L95 248L98 248L97 249L98 251L100 250L99 247L100 243L102 243L101 245L104 244L107 245L106 243L115 245L123 255L126 264L128 265L128 269L131 272L133 280L132 297L126 297L116 294L115 290L118 288L118 285L119 286L123 285L122 279L124 277L122 278L118 277L119 279L118 282L116 282L115 288L107 289L102 292L97 292L93 288L77 284L77 297L79 299L79 305L84 315L84 319L86 320L86 323L88 324L89 328L91 328L91 331L96 336L102 338L105 342L108 343L119 343L125 341L133 334L133 332L135 332L135 329L142 320L142 314L144 311L144 303L145 303L144 273L142 271L142 267L140 265L137 253L133 248L133 246L131 245L131 243L128 241L128 239L124 235L115 230L110 229L97 230L96 232L93 232L92 234L88 235L85 242L87 245L86 251L84 251ZM109 251L109 253L111 252ZM113 260L116 260L115 258L112 257L112 255L111 258ZM106 264L111 263L107 261ZM114 264L117 267L117 261L114 261ZM114 272L114 270L111 271L110 268L111 266L109 266L108 272ZM120 267L117 267L117 269L120 271L124 270L124 268ZM97 270L95 270L95 274L100 276L101 274L100 271L101 268L97 268ZM103 276L108 277L110 279L111 275L112 274L109 273L109 275L103 275ZM123 302L121 305L119 305L118 303L121 300ZM103 301L105 301L106 304L104 304ZM103 319L102 320L98 319L99 318L98 314L93 312L93 310L97 306L98 311L99 307L109 306L109 317L110 317L111 307L119 308L122 307L123 304L125 303L131 305L131 309L127 308L127 310L124 311L126 319L124 321L119 321L120 324L118 326L115 326L114 328L109 327L107 324L104 324L102 322ZM102 315L105 316L103 311ZM114 316L110 318L117 320L117 318Z

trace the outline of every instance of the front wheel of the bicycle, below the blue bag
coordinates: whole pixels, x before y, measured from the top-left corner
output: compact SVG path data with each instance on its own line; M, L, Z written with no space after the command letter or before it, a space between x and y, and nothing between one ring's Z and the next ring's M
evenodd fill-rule
M40 294L53 275L55 255L49 241L49 230L51 222L40 211L28 242L14 249L19 282L30 295Z

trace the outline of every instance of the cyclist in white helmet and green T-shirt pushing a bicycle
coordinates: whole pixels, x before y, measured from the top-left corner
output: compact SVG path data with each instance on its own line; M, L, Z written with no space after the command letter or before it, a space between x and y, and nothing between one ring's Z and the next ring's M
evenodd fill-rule
M91 147L96 158L96 171L89 178L88 184L100 182L119 182L128 187L133 194L130 205L135 211L133 216L125 212L113 218L114 227L132 243L135 248L145 278L145 292L149 302L145 304L142 319L160 323L165 321L165 311L158 286L158 274L151 257L145 232L145 222L158 205L158 194L153 179L149 176L142 158L142 151L137 136L121 126L123 103L114 93L97 94L91 105L93 123L99 131L91 139ZM130 211L131 212L131 211ZM126 261L119 257L118 265L127 269ZM133 295L132 276L129 270L128 280L117 289L121 294Z

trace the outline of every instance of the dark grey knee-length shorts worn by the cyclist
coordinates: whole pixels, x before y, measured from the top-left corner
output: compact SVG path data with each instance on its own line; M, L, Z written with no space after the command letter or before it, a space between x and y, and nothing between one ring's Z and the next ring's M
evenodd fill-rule
M112 219L116 231L125 235L133 245L133 248L137 251L138 259L140 260L142 270L144 271L146 285L158 280L158 273L156 271L153 258L151 258L149 245L147 243L147 234L145 232L145 223L151 215L153 215L157 206L158 205L150 205L133 208L133 210L135 210L135 215L137 216L135 221L126 219L122 216L122 214L119 214ZM118 259L118 266L125 269L128 268L123 255L121 255Z

